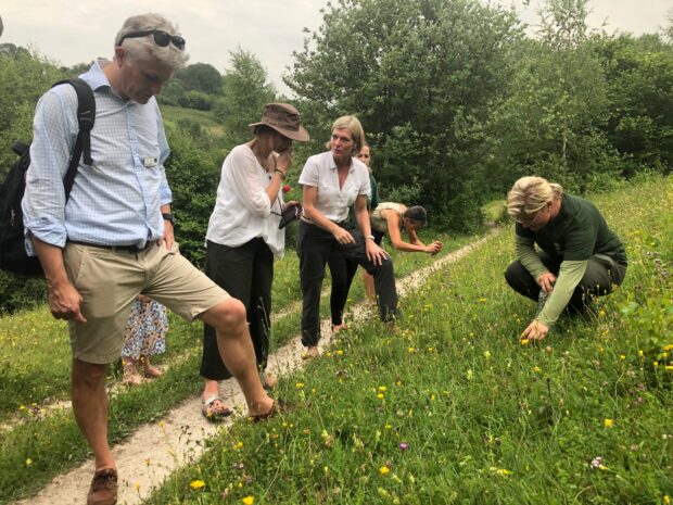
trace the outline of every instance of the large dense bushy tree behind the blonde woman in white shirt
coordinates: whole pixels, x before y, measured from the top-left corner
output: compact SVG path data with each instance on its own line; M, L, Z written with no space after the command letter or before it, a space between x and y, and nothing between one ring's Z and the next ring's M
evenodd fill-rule
M316 134L356 114L385 187L417 185L433 224L471 229L487 148L483 125L504 99L511 10L471 0L340 0L294 53L285 84ZM320 135L321 134L321 135ZM316 147L319 147L316 140Z

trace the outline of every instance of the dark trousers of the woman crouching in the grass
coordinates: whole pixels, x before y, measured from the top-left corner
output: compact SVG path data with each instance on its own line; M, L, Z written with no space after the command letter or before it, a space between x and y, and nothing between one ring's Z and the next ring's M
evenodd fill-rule
M554 275L558 276L561 262L539 251L539 258ZM617 263L605 254L595 254L589 257L586 272L568 302L568 308L573 312L584 312L593 298L609 294L615 286L620 286L626 275L626 265ZM537 302L541 287L533 276L518 260L505 272L507 283L518 293Z

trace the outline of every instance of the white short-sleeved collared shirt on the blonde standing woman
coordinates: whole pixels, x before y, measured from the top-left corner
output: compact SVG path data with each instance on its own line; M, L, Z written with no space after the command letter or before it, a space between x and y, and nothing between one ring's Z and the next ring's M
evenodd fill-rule
M318 188L316 209L333 223L342 223L348 218L348 207L360 194L371 192L369 171L358 159L351 159L348 176L339 189L339 174L332 152L327 151L306 160L300 176L302 186Z

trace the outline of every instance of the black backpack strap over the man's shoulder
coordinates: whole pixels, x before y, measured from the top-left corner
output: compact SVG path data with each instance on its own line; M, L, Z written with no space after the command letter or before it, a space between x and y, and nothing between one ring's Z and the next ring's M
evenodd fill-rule
M71 190L73 189L73 182L75 182L75 176L77 175L79 160L82 157L82 154L84 163L86 165L91 166L93 164L93 160L91 160L91 129L93 128L93 122L96 121L96 99L91 87L86 80L80 79L79 77L60 80L54 84L54 86L62 84L68 84L75 88L75 92L77 93L77 125L79 127L77 138L75 139L73 157L71 157L71 163L67 167L67 172L65 173L65 177L63 177L65 201L67 202L71 195Z

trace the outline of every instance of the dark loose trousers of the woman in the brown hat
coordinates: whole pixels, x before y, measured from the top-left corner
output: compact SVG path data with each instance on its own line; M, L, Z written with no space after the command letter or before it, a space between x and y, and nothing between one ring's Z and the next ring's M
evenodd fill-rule
M245 305L257 367L264 370L269 355L274 253L261 238L238 248L208 241L205 274ZM201 376L211 380L231 377L219 357L215 328L208 325L203 331Z

